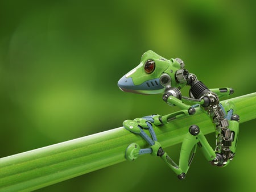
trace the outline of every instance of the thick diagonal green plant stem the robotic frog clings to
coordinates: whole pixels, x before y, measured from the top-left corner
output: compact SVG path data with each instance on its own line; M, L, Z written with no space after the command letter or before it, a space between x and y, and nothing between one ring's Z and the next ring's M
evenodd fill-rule
M233 102L241 123L256 118L256 93L222 101ZM204 134L214 132L210 119L200 110L171 123L156 127L158 140L164 147L183 141L191 124ZM31 191L125 161L130 143L147 147L142 137L123 127L96 133L0 158L0 191Z

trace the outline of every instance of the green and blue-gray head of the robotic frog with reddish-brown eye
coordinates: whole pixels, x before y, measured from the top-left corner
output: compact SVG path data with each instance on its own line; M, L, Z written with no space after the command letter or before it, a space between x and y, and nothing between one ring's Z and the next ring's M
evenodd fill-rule
M187 84L188 71L180 59L164 59L153 51L142 55L140 64L119 81L122 91L139 94L163 94L171 87Z

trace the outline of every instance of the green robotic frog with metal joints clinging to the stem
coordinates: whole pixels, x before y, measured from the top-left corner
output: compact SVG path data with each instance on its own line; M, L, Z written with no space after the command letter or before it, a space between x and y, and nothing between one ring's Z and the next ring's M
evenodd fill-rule
M166 116L151 115L123 122L126 130L141 135L150 145L149 148L141 149L136 143L130 144L126 149L126 158L134 160L145 153L159 156L181 180L188 172L197 146L210 164L221 167L228 165L236 152L240 121L232 103L225 105L224 108L219 102L219 98L234 93L232 88L208 89L203 82L197 80L195 74L189 73L184 67L184 62L179 58L167 60L153 51L147 51L142 55L140 64L118 81L122 91L163 94L164 102L181 108L181 111L166 115L168 119L179 113L193 115L196 112L195 108L200 107L212 120L216 130L216 148L210 147L203 132L193 124L188 128L181 145L179 165L163 151L153 129L154 126L169 123ZM189 97L181 95L180 90L185 85L191 87ZM145 129L149 130L152 138L147 135Z

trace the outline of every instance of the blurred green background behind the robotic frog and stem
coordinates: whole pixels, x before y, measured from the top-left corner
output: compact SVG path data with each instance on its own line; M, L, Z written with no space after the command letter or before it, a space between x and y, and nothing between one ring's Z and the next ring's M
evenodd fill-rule
M208 87L233 87L232 97L255 92L255 4L1 1L0 157L177 110L161 95L117 87L148 49L180 57ZM143 156L38 191L253 191L255 123L241 124L237 156L226 168L197 152L179 181L159 158ZM180 145L166 151L177 160Z

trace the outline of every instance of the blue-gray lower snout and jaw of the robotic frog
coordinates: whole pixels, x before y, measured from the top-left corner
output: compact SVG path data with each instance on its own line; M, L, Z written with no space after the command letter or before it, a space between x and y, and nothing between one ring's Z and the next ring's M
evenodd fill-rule
M160 84L159 78L148 80L140 85L134 85L131 77L123 76L117 83L118 87L125 92L138 94L160 94L164 93L164 87Z

